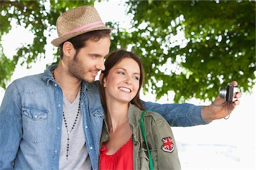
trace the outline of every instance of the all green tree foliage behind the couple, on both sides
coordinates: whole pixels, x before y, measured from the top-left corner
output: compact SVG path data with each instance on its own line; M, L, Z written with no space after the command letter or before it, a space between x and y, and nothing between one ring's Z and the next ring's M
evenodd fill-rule
M35 35L33 44L19 48L13 58L0 54L0 86L6 87L19 59L31 63L44 57L42 44L56 29L60 13L93 3L0 1L0 40L13 19ZM152 89L158 99L174 91L175 101L212 100L231 80L237 80L242 91L251 91L255 84L255 2L127 1L127 14L134 15L132 28L107 23L117 28L111 50L132 46L144 63L144 90ZM176 39L183 34L181 41Z

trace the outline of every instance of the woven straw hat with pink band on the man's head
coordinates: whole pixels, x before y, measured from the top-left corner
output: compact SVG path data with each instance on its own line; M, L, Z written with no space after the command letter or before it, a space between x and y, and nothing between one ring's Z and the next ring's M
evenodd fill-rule
M57 19L56 26L59 37L52 40L51 43L54 46L60 46L68 39L85 32L102 29L112 30L112 28L105 26L93 6L80 6L64 12Z

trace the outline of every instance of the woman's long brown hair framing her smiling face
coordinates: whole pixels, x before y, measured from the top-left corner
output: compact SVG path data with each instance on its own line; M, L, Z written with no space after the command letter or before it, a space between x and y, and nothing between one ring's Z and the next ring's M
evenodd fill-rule
M101 94L101 103L103 105L105 114L107 114L107 105L106 105L106 96L105 96L105 88L104 88L104 78L108 78L109 70L112 69L115 65L117 65L119 62L122 61L123 58L131 58L134 59L139 65L140 71L140 79L139 79L139 89L136 94L136 96L133 98L133 100L130 101L131 104L136 105L139 109L144 110L144 107L141 103L141 99L139 99L139 91L141 90L143 80L144 80L144 70L141 58L139 58L136 54L133 52L127 52L126 50L117 50L116 52L109 54L108 58L106 58L105 61L105 70L101 71L103 73L101 82L100 82L100 94Z

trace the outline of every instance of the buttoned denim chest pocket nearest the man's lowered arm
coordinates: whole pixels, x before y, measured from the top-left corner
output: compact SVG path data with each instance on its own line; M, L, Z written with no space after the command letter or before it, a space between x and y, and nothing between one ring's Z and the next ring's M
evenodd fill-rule
M47 117L47 109L23 105L23 139L32 143L43 142L46 138Z

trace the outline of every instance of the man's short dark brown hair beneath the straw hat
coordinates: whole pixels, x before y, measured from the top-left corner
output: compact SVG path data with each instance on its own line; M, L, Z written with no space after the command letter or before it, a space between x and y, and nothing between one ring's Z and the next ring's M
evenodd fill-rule
M67 41L71 42L76 49L76 54L80 52L81 48L84 48L86 46L86 41L88 40L93 40L93 41L98 41L101 38L104 37L110 37L110 30L104 29L104 30L96 30L96 31L90 31L83 33L81 35L78 35L76 37L72 37L71 39L68 39ZM65 41L65 42L67 42ZM63 42L60 45L60 58L63 57Z

